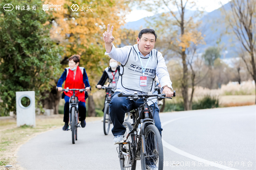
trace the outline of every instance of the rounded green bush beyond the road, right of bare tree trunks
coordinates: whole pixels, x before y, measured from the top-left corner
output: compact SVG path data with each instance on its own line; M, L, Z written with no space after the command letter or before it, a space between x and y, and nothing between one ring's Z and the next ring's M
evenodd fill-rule
M215 108L215 107L219 107L218 97L212 97L210 95L207 95L202 100L199 100L198 102L193 103L192 110Z

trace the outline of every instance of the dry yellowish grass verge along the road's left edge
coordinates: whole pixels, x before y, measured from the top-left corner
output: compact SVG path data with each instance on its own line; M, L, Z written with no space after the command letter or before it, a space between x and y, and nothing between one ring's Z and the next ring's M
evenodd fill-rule
M86 122L100 120L101 117L87 117ZM12 165L12 170L23 170L17 162L17 151L22 144L36 135L62 128L63 115L36 116L36 127L23 125L17 128L15 119L0 119L0 169L7 170L5 165Z

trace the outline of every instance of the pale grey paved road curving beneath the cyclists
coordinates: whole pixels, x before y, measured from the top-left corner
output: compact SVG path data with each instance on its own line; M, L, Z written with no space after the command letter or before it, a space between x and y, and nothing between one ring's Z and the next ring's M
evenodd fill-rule
M160 118L164 169L256 169L255 105L163 113ZM102 122L88 122L78 129L76 144L70 131L48 131L22 145L18 161L28 170L116 170L120 164L112 143Z

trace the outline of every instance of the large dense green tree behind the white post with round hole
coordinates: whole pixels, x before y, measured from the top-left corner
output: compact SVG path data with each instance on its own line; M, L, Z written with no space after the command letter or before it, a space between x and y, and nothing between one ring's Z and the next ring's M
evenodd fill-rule
M4 115L16 109L15 92L35 91L39 101L41 93L49 90L56 75L61 74L60 48L49 37L50 27L44 25L51 17L40 10L42 2L12 0L0 2L0 6L7 3L30 5L31 10L0 11L0 105Z

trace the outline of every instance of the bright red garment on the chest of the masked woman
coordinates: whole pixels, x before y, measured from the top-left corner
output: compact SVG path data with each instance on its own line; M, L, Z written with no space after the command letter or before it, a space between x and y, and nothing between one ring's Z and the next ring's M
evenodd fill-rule
M76 69L75 80L74 80L74 71L72 71L70 69L68 70L68 75L66 77L64 89L66 89L67 87L69 89L84 89L83 74L82 74L79 66L77 66L77 69ZM68 97L71 97L73 95L73 91L68 91L68 92L64 92L64 93ZM76 96L78 97L79 101L84 100L84 92L76 91ZM83 102L85 102L85 100Z

